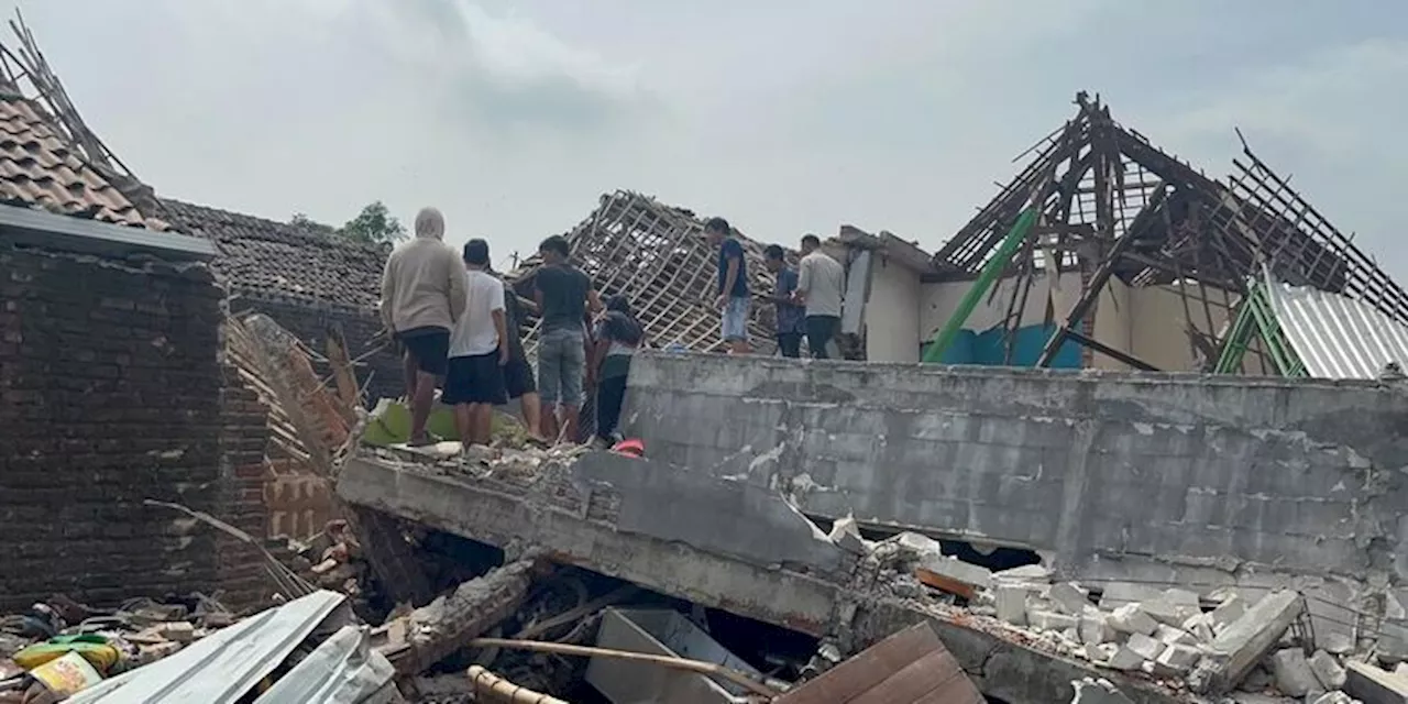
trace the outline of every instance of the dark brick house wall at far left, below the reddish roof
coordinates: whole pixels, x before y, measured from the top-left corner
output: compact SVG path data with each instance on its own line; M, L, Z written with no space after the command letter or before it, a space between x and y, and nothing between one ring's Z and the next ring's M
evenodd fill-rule
M262 525L265 418L222 393L222 291L196 263L0 244L0 610L230 587L258 558L145 498Z

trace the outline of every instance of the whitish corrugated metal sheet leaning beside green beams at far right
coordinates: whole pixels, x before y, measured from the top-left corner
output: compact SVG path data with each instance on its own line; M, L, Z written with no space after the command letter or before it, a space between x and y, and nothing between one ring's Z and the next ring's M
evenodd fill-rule
M1377 379L1387 362L1408 363L1408 327L1373 306L1270 277L1267 297L1286 339L1318 379Z

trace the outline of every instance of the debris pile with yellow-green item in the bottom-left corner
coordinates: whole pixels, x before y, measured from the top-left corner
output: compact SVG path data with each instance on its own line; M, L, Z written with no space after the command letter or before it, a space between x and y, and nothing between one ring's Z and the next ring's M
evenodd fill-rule
M55 596L0 617L0 704L63 701L234 622L234 614L204 594L132 600L114 611Z

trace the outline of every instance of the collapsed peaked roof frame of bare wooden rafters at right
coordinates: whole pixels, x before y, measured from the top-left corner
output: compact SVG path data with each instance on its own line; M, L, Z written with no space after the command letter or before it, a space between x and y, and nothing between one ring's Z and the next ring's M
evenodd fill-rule
M1209 179L1115 122L1098 96L1091 100L1083 92L1076 104L1076 115L1031 148L1026 153L1035 156L1022 172L934 256L931 279L976 279L1018 215L1038 208L1038 227L1002 263L1004 276L1024 280L1008 306L1008 344L1031 280L1050 270L1080 272L1084 290L1048 352L1069 337L1110 353L1088 334L1097 297L1111 279L1128 286L1181 283L1188 308L1204 308L1211 321L1208 308L1221 303L1208 293L1222 300L1245 294L1263 265L1280 280L1342 293L1408 321L1408 293L1249 148L1233 161L1232 176ZM1188 335L1195 355L1209 362L1218 356L1214 351L1224 341L1191 327ZM1043 355L1038 366L1049 362Z

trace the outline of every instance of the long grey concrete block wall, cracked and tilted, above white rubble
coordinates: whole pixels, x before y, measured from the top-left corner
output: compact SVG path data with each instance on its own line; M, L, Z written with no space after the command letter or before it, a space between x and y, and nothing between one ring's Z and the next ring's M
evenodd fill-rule
M645 353L629 384L653 459L811 514L1086 580L1408 583L1408 394L1374 383Z

